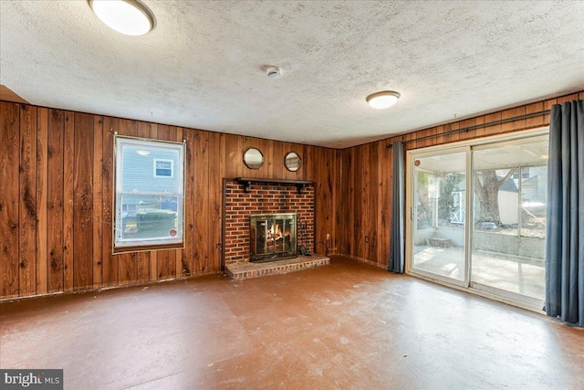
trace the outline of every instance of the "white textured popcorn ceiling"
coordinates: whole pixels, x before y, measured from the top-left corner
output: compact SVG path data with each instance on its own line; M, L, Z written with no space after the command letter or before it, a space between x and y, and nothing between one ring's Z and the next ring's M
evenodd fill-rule
M347 147L584 90L584 2L0 1L0 84L32 104ZM283 69L268 79L262 68ZM397 90L391 109L365 97Z

